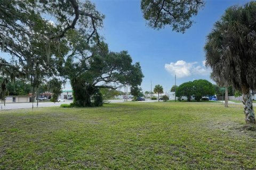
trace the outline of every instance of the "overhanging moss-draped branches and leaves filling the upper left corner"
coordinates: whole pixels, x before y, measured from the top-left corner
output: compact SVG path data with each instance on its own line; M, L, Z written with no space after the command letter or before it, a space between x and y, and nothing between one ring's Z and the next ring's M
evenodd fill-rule
M100 44L97 29L102 27L104 16L90 1L4 0L0 1L0 11L0 46L12 55L13 63L19 63L18 70L26 74L33 94L44 79L66 76L63 65L65 58L76 52L74 39L83 41L82 46L87 49ZM54 23L49 21L49 16ZM84 52L81 48L79 52ZM0 62L0 73L3 73L2 66L9 65ZM58 90L54 90L56 100Z

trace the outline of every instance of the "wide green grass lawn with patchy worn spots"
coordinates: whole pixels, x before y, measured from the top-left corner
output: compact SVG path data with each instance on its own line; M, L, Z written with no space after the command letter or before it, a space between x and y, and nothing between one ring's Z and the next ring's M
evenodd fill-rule
M0 112L0 169L255 169L243 106L126 103Z

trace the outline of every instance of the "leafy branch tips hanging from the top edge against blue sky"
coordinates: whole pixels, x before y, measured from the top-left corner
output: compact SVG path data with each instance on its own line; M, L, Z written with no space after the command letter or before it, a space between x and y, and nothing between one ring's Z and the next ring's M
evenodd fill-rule
M192 16L197 15L199 8L204 6L202 0L186 1L153 1L141 0L143 17L154 29L171 25L173 31L184 33L193 24Z

